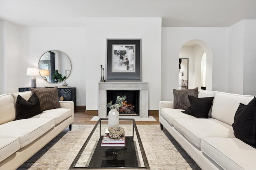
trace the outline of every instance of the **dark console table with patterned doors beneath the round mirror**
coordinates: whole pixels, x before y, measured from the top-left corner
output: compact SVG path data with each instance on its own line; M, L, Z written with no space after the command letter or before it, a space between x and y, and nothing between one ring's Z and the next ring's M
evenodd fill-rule
M37 87L37 88L45 88L45 87ZM29 87L20 87L19 92L30 91ZM67 87L67 88L58 88L59 101L73 101L74 106L76 106L76 88L75 87Z

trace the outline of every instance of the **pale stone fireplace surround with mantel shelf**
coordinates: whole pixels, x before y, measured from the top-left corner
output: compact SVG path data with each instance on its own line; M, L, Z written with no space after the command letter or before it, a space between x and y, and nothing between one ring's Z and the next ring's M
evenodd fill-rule
M107 90L140 90L140 117L148 117L148 82L99 82L100 118L107 117Z

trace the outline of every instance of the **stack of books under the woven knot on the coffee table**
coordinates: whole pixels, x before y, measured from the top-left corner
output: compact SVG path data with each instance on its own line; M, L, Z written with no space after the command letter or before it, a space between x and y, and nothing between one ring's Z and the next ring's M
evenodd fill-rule
M109 131L108 129L106 129L106 132L100 144L101 147L124 147L125 146L124 135L122 135L120 139L112 139L108 136L108 134L109 134Z

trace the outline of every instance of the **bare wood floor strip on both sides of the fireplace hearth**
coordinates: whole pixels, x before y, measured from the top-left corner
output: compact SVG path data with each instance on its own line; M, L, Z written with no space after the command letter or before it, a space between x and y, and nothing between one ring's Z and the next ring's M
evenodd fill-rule
M92 115L85 115L84 111L75 111L73 125L95 125L97 121L90 121ZM158 115L153 115L156 121L136 121L136 125L160 125Z

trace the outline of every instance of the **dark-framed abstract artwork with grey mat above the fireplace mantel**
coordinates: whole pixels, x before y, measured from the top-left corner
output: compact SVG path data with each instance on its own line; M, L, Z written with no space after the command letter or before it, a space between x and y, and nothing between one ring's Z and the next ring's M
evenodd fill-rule
M141 39L107 39L106 80L141 80Z

